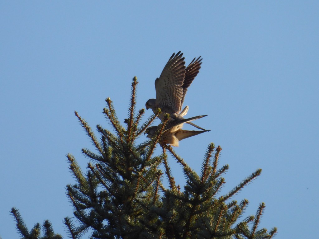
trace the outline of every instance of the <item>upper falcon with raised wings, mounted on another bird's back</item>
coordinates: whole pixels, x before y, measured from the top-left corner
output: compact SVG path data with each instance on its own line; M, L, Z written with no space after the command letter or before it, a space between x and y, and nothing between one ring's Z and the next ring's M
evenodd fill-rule
M156 99L149 99L145 104L146 109L152 109L153 112L156 108L161 108L162 114L159 115L161 120L164 113L169 113L174 120L183 119L179 112L182 110L187 88L201 68L201 57L194 58L185 68L185 58L182 55L183 53L178 52L170 57L161 75L155 80ZM188 124L205 130L192 122Z

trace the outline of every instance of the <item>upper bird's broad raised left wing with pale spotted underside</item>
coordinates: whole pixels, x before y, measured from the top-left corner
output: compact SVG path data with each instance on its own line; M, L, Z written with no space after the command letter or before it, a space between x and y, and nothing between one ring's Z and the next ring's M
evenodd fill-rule
M182 56L181 52L174 53L155 80L156 106L164 113L180 112L185 78L185 58Z

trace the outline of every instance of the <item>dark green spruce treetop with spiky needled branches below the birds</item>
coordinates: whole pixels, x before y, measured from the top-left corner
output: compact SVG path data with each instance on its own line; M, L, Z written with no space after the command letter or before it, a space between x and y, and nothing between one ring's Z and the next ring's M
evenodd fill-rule
M228 165L219 167L220 146L208 145L199 173L169 145L162 146L161 154L155 155L154 149L160 147L158 142L169 115L152 140L137 143L160 109L142 123L145 110L136 109L136 77L131 86L128 118L124 125L117 118L111 99L106 99L103 114L113 132L97 125L99 139L75 112L98 153L82 149L89 159L86 172L80 169L71 154L67 155L70 171L76 179L74 185L66 187L74 208L73 219L64 218L70 238L82 238L87 231L90 238L99 239L272 238L276 228L270 231L258 229L264 203L259 205L256 215L240 220L249 202L247 199L232 200L241 188L260 175L261 169L223 194L221 188L225 179L222 176ZM171 173L169 162L174 163L173 160L181 166L187 179L183 189ZM165 178L168 187L163 185ZM54 233L49 221L44 221L41 236L39 223L28 230L18 210L12 208L11 213L21 238L62 238Z

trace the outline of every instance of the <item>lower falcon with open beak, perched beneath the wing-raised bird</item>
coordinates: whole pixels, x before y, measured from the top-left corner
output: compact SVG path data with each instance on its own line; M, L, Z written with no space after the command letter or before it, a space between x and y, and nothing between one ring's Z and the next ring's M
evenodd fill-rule
M207 115L199 115L183 120L168 121L159 139L159 144L161 146L163 146L164 144L170 144L172 146L178 147L179 141L206 132L205 130L182 130L182 125L184 123L188 123L190 121L197 120L205 116ZM158 126L151 126L145 130L144 134L147 134L147 138L152 138L157 130Z

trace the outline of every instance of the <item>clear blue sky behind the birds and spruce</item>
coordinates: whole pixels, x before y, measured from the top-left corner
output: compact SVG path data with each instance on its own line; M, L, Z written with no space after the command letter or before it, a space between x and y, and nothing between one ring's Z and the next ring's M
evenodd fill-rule
M207 145L221 145L225 193L262 168L235 197L249 199L245 215L265 202L261 226L278 227L276 238L315 238L318 12L318 1L1 1L0 235L18 237L12 206L29 228L49 219L66 235L65 185L74 179L65 155L85 167L80 150L93 148L74 110L91 127L108 127L101 112L110 97L124 120L132 77L143 108L181 50L187 64L203 57L184 104L189 117L209 115L196 123L211 132L176 151L199 172Z

